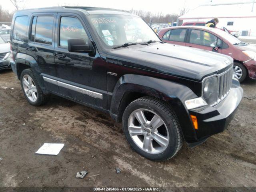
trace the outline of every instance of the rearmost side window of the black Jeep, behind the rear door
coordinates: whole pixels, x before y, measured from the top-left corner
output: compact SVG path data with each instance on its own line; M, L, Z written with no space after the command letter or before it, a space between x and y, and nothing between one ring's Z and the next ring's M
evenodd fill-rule
M26 41L26 32L28 26L28 16L16 17L13 27L13 39L17 41Z

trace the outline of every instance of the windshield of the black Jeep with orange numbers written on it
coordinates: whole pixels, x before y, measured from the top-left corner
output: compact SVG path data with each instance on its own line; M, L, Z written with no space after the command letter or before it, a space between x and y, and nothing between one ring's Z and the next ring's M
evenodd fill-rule
M127 15L91 15L89 17L98 36L109 48L128 42L160 41L142 18Z

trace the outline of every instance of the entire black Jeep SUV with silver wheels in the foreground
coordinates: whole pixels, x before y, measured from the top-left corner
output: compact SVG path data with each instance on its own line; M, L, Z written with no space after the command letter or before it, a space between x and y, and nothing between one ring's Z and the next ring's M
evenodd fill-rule
M12 70L34 106L49 94L122 122L136 152L172 158L222 132L243 90L229 56L166 44L122 10L52 7L14 14Z

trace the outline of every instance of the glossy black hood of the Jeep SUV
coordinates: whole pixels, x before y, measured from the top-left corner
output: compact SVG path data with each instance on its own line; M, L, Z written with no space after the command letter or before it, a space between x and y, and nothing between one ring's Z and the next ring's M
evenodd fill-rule
M229 66L233 59L197 48L152 43L110 50L107 61L201 81L204 76Z

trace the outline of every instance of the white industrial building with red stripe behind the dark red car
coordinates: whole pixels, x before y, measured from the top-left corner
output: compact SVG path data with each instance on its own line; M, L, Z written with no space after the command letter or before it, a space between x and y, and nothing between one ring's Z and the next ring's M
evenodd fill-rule
M219 18L217 27L237 30L240 35L256 36L256 3L238 2L199 6L178 18L179 24L191 21L207 22Z

